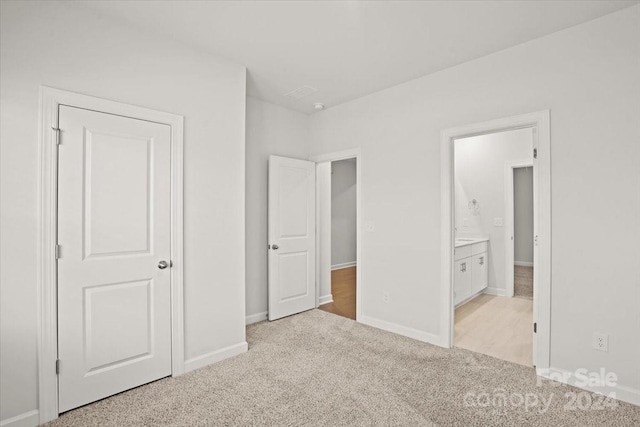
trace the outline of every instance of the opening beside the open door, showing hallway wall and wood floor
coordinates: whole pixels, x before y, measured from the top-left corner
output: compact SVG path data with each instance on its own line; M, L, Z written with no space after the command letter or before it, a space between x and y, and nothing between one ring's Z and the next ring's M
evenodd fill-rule
M327 289L326 283L320 288L319 308L355 320L358 269L356 261L357 162L355 158L336 160L329 162L329 167L331 182L328 187L331 194L322 202L329 202L331 205L329 217L331 274L329 288ZM323 178L326 179L326 177Z

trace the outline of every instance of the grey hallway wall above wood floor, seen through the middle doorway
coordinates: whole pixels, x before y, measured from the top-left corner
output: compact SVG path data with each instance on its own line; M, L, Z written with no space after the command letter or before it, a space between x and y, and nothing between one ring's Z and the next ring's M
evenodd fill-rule
M356 262L356 160L331 162L331 265Z

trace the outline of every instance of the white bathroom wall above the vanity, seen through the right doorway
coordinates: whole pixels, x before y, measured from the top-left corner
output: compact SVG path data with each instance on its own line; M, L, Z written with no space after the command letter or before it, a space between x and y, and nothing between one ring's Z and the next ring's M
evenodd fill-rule
M505 163L532 158L533 130L530 128L462 138L454 142L457 234L489 237L489 288L498 294L506 291L507 282ZM472 199L476 199L480 205L477 215L469 211L469 201ZM503 226L496 227L494 218L502 218Z

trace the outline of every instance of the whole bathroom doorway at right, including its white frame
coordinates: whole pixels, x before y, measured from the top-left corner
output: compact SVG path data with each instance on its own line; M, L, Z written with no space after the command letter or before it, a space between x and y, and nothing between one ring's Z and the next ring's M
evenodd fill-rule
M508 136L518 134L526 141L524 154L514 151L517 144L506 142ZM505 140L502 148L509 156L501 157L479 143L495 138ZM497 350L502 346L503 352L494 356L535 366L544 375L549 368L551 329L549 111L444 130L441 148L442 345L470 348L475 344L470 349L485 354L496 351L492 346ZM513 170L521 167L531 168L533 186L532 299L513 297ZM492 190L485 191L483 182ZM473 321L478 310L492 309L494 326L482 323L486 316L475 315ZM520 318L511 319L511 315ZM472 324L478 327L473 333ZM526 345L513 350L510 344L516 339ZM520 359L507 357L508 351Z

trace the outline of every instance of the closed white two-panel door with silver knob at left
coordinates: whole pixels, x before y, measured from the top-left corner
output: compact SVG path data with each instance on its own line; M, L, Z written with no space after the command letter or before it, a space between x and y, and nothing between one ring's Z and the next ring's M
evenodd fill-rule
M64 412L171 375L171 134L167 125L67 106L59 127Z

